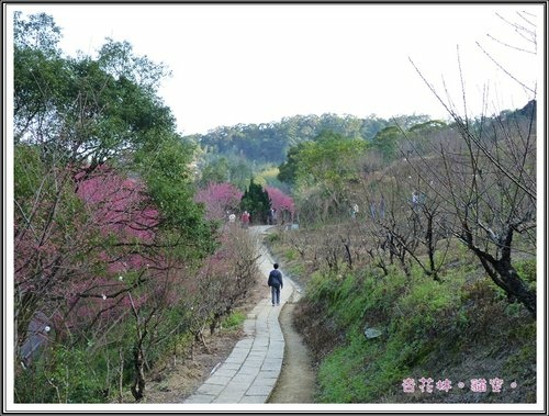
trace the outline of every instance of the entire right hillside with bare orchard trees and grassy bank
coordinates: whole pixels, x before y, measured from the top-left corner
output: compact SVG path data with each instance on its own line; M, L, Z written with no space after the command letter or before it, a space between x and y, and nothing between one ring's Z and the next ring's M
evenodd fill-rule
M535 102L455 117L293 156L300 226L270 246L306 288L321 403L536 401Z

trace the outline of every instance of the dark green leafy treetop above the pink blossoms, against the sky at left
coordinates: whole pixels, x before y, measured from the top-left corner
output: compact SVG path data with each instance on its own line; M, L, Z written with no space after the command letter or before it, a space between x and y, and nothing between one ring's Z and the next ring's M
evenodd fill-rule
M99 58L65 58L53 19L15 14L14 133L58 153L64 162L116 160L173 133L175 117L156 95L161 65L109 41Z

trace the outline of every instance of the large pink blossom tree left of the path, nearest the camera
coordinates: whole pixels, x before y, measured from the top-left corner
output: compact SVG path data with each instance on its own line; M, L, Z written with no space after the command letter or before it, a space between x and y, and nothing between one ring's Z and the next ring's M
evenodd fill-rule
M89 356L100 357L107 345L127 350L132 342L139 400L147 348L173 330L158 328L179 325L166 314L183 295L186 265L166 245L143 181L105 166L42 177L43 185L18 201L14 218L15 348L38 314L55 329L56 348L87 340Z

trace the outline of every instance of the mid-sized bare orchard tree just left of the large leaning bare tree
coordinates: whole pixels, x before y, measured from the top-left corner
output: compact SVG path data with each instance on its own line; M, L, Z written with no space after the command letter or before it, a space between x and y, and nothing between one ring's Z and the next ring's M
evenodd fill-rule
M434 162L432 156L405 158L384 172L394 181L382 184L373 178L370 188L377 191L369 192L369 215L370 233L373 240L381 241L381 251L389 249L391 257L396 256L405 272L408 267L404 259L410 257L425 276L438 281L450 245L447 206L434 191L437 179L418 167ZM376 254L380 254L379 248L370 251L372 258ZM379 257L374 261L380 263Z

